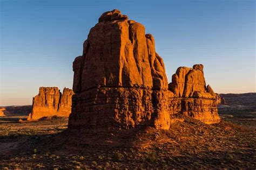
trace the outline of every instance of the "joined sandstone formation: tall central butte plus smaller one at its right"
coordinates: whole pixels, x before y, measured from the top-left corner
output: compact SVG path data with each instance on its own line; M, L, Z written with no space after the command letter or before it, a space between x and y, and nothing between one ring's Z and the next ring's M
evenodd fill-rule
M69 129L101 131L151 125L169 129L173 114L220 121L203 65L180 67L168 84L163 59L145 27L119 10L100 16L73 62Z

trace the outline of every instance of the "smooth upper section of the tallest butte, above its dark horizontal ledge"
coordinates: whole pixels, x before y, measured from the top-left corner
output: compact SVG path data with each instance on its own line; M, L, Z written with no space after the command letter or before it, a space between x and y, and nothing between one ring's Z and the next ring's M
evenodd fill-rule
M73 62L75 93L97 86L167 89L153 36L119 10L103 13L83 46Z

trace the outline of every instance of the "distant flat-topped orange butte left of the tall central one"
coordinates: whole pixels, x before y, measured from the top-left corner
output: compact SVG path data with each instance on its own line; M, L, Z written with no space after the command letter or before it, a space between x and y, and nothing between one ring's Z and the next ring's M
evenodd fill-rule
M46 116L69 116L73 91L68 88L60 93L57 87L40 87L39 94L33 97L32 112L28 121Z

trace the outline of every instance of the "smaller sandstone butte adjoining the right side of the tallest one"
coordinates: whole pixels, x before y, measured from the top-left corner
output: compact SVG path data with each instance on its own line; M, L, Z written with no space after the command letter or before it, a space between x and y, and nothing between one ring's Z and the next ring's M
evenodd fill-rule
M203 68L203 65L194 65L193 68L177 69L172 75L169 90L179 99L173 100L172 105L180 104L178 114L191 116L206 124L218 123L217 96L210 85L206 86Z

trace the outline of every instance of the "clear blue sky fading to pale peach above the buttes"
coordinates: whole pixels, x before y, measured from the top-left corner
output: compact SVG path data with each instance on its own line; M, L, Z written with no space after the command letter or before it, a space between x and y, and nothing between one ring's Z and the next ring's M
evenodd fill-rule
M179 66L203 63L216 93L255 92L255 1L0 2L0 105L32 104L41 86L72 88L73 60L112 9L153 34L169 82Z

